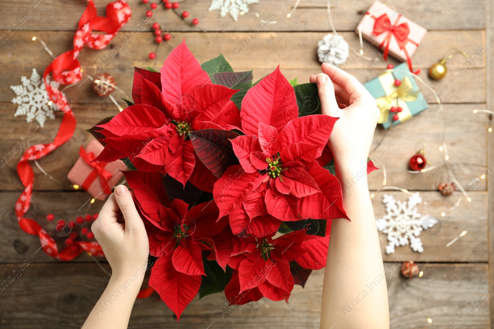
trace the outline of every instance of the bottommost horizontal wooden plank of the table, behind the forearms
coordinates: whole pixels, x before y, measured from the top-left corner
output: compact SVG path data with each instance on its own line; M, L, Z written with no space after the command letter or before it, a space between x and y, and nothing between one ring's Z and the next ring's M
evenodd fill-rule
M12 275L17 266L2 266L0 277ZM428 328L427 318L438 329L452 329L458 323L460 328L489 328L489 307L478 302L489 290L487 264L419 266L424 276L407 280L401 277L399 264L385 263L392 329ZM94 263L30 263L18 273L21 276L2 292L2 328L80 328L108 282L108 276ZM179 324L154 293L135 302L128 328L204 329L213 323L212 328L237 328L239 324L246 329L264 328L266 324L273 329L319 328L323 279L324 270L314 271L305 289L295 286L289 303L263 298L228 309L223 293L202 300L196 297ZM369 293L366 298L371 298L371 289L364 289ZM469 317L467 311L471 312L471 303L476 302L478 309ZM341 304L343 311L346 301Z

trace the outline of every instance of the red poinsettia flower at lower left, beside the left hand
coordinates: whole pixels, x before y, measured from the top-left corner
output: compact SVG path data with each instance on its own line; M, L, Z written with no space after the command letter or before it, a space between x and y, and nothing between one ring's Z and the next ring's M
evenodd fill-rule
M201 276L206 275L202 250L212 248L203 241L211 241L213 245L209 237L220 233L228 221L216 222L219 212L214 202L201 203L189 210L189 205L180 199L170 203L161 176L161 173L125 172L141 214L152 224L146 225L149 252L159 257L151 270L149 286L180 319L199 291Z

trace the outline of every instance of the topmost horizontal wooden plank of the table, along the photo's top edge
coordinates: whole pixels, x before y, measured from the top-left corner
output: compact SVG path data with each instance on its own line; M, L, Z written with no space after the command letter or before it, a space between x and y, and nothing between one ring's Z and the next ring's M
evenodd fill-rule
M105 6L108 1L96 0L98 14L105 15ZM140 0L127 1L132 10L132 18L123 27L130 31L132 28L141 29L142 19L145 19L145 5ZM42 3L33 5L32 1L20 0L12 3L6 0L1 2L0 29L19 29L14 26L18 19L28 13L29 17L20 25L24 30L75 30L77 22L85 8L85 3L67 2L63 0L43 0ZM158 22L163 23L164 30L170 31L254 31L256 28L265 29L260 19L269 17L271 13L276 15L276 24L269 25L272 31L330 31L327 2L324 0L304 0L300 2L298 9L288 19L287 14L292 10L295 1L264 0L249 6L250 12L239 16L234 22L230 15L221 18L217 11L208 12L210 1L181 1L181 13L183 10L190 12L190 18L199 18L199 26L185 24L177 15L160 6L155 10ZM362 15L369 9L371 2L360 0L334 0L331 1L331 11L334 26L338 31L354 31ZM448 0L427 1L414 0L412 3L403 1L386 1L386 4L405 15L415 23L427 30L476 30L483 29L485 25L484 1L482 0L456 0L451 3ZM424 10L424 8L427 8ZM255 15L259 14L259 18ZM144 21L145 22L145 21ZM189 20L190 22L190 20ZM151 30L151 24L146 24L146 30Z

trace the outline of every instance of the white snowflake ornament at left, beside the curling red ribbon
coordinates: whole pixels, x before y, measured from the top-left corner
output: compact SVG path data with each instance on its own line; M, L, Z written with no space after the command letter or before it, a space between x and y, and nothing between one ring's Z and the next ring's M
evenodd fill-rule
M50 99L46 93L43 80L40 74L33 69L31 77L28 79L26 76L21 76L21 85L10 86L10 89L14 91L17 97L12 98L11 102L17 104L17 110L14 116L26 115L26 122L30 123L33 119L36 119L41 127L44 125L44 121L49 119L55 119L56 109L53 102L48 105ZM52 81L50 85L58 89L59 83Z

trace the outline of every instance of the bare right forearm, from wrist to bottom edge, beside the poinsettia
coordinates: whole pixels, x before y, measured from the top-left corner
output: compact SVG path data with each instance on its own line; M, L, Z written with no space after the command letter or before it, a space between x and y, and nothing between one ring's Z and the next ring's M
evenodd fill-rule
M322 329L389 328L386 279L365 168L365 162L354 168L336 164L343 206L351 221L332 222Z

